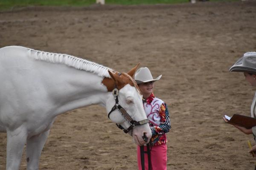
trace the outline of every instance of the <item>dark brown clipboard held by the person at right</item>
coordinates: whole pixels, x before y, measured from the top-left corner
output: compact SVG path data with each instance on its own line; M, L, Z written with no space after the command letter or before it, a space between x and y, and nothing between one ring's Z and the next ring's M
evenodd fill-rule
M256 119L249 116L234 114L232 117L224 115L222 118L226 123L229 123L231 125L242 126L247 129L256 126Z

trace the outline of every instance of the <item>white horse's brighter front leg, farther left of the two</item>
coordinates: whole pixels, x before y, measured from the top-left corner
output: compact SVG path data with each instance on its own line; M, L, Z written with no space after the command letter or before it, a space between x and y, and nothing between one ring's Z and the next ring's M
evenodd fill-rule
M6 170L19 170L27 133L22 127L7 130Z

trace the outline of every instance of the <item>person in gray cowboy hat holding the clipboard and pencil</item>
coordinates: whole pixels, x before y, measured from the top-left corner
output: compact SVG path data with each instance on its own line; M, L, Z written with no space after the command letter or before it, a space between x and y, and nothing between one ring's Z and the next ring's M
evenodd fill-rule
M252 86L256 86L256 52L247 52L243 57L230 68L230 71L243 72L245 80ZM251 117L256 118L256 93L251 105ZM246 129L245 127L236 126L241 132L245 134L253 134L254 140L256 139L256 126ZM256 145L249 151L253 153L256 151Z

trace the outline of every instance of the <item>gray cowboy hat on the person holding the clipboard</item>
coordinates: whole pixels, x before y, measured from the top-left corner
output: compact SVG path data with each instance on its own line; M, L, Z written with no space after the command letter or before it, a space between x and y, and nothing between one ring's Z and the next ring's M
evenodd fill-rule
M244 56L239 58L229 71L256 74L256 52L244 53Z

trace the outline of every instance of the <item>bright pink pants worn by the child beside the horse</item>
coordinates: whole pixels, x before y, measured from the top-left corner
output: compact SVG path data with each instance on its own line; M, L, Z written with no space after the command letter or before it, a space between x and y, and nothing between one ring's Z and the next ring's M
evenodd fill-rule
M144 151L147 150L147 147L144 146ZM166 144L160 144L157 146L151 146L151 165L152 170L167 170L167 146ZM138 167L139 170L141 168L141 161L140 161L140 146L137 146L137 160L138 160ZM145 170L148 170L148 154L144 154L144 161L145 161Z

